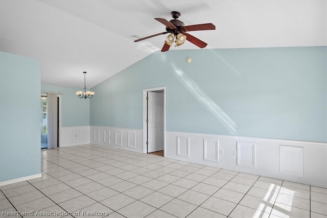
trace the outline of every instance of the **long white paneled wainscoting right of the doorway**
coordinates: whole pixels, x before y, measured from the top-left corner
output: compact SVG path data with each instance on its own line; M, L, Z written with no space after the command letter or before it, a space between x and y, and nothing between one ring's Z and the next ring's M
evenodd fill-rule
M166 131L165 149L166 158L327 188L327 143Z

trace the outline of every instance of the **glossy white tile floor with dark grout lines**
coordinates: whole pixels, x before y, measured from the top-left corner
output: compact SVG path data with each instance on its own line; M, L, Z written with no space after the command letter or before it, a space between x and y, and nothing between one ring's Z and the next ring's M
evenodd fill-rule
M1 217L327 217L325 188L90 144L41 158L0 187Z

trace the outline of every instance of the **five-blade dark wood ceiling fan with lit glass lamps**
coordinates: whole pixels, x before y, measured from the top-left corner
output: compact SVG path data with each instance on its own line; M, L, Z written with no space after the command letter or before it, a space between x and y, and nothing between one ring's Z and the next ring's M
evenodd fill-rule
M180 16L179 12L172 11L171 15L174 19L172 19L170 21L166 20L165 18L154 18L166 26L166 32L154 34L154 35L147 36L147 37L144 37L141 39L136 39L134 42L138 42L138 41L142 41L142 40L152 38L155 36L170 33L166 37L166 41L165 41L164 46L161 49L161 52L167 52L169 50L170 46L172 46L172 44L174 42L176 43L175 45L179 46L179 45L183 44L185 42L185 40L188 40L189 42L192 42L196 46L203 49L203 47L205 47L207 45L207 43L205 43L204 41L202 41L186 32L198 31L198 30L216 30L215 25L213 25L212 23L202 23L202 24L198 24L198 25L185 26L184 22L177 19Z

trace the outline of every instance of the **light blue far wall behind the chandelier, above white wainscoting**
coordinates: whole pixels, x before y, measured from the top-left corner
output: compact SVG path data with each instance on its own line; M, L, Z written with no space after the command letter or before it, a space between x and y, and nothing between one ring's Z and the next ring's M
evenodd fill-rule
M41 84L42 91L62 92L61 95L61 126L78 127L90 125L90 101L79 99L78 88Z

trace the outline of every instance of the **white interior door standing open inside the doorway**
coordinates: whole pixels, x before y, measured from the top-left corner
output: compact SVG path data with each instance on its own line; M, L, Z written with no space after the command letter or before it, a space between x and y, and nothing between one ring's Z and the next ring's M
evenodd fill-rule
M164 150L164 92L148 92L148 153Z

